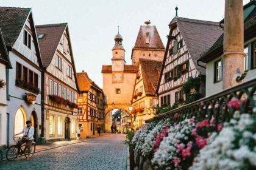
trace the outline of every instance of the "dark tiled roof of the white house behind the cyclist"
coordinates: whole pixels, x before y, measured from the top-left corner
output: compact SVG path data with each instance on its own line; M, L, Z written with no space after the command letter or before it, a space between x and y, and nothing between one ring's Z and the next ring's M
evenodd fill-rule
M5 45L12 47L29 16L31 9L0 7L0 28Z

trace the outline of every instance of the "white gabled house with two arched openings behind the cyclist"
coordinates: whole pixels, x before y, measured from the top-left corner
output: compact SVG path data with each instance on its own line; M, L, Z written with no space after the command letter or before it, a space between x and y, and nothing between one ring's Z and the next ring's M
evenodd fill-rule
M13 69L7 69L7 141L23 131L27 120L35 127L35 140L41 129L42 62L31 9L0 7L0 28Z

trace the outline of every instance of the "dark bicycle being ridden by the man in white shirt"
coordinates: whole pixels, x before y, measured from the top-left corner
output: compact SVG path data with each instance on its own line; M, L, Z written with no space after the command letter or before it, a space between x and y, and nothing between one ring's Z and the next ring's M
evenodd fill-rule
M21 138L19 138L20 140ZM35 142L32 141L31 143L31 147L30 147L30 158L35 154ZM18 151L18 141L16 141L15 145L10 146L10 148L7 150L6 152L6 158L9 161L15 160L16 157L18 157L18 155L23 155L27 158L29 157L28 154L29 152L27 151L27 142L21 144L20 147L20 152Z

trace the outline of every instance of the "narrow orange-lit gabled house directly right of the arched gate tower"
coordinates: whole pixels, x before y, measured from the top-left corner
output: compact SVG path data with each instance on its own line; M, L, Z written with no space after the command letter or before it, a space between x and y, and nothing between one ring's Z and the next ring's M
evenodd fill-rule
M155 116L158 98L155 96L162 61L140 58L132 96L133 127L138 129Z

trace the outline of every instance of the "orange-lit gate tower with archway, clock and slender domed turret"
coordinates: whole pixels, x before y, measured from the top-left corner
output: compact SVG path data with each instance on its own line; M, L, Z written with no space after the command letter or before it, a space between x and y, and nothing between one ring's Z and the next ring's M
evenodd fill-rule
M122 45L123 37L115 36L115 46L112 49L112 65L102 66L103 91L107 98L107 108L105 113L108 114L113 109L126 110L129 114L131 105L133 86L137 75L137 66L126 65L125 51ZM106 118L105 124L112 124L110 118Z

